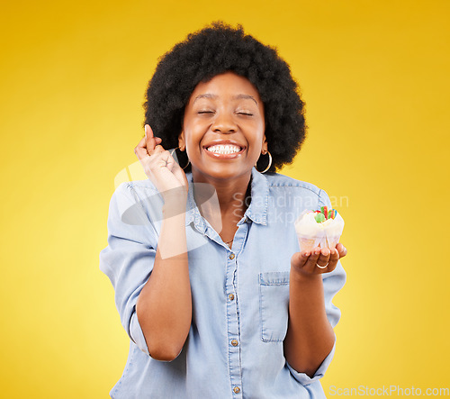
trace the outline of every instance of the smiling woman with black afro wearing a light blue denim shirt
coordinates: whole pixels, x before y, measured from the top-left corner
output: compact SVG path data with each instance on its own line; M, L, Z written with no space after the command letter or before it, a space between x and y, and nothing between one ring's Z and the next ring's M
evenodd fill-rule
M275 173L305 136L289 67L214 23L160 60L145 109L148 180L112 195L100 255L130 336L112 397L325 397L347 249L299 251L293 221L330 203Z

